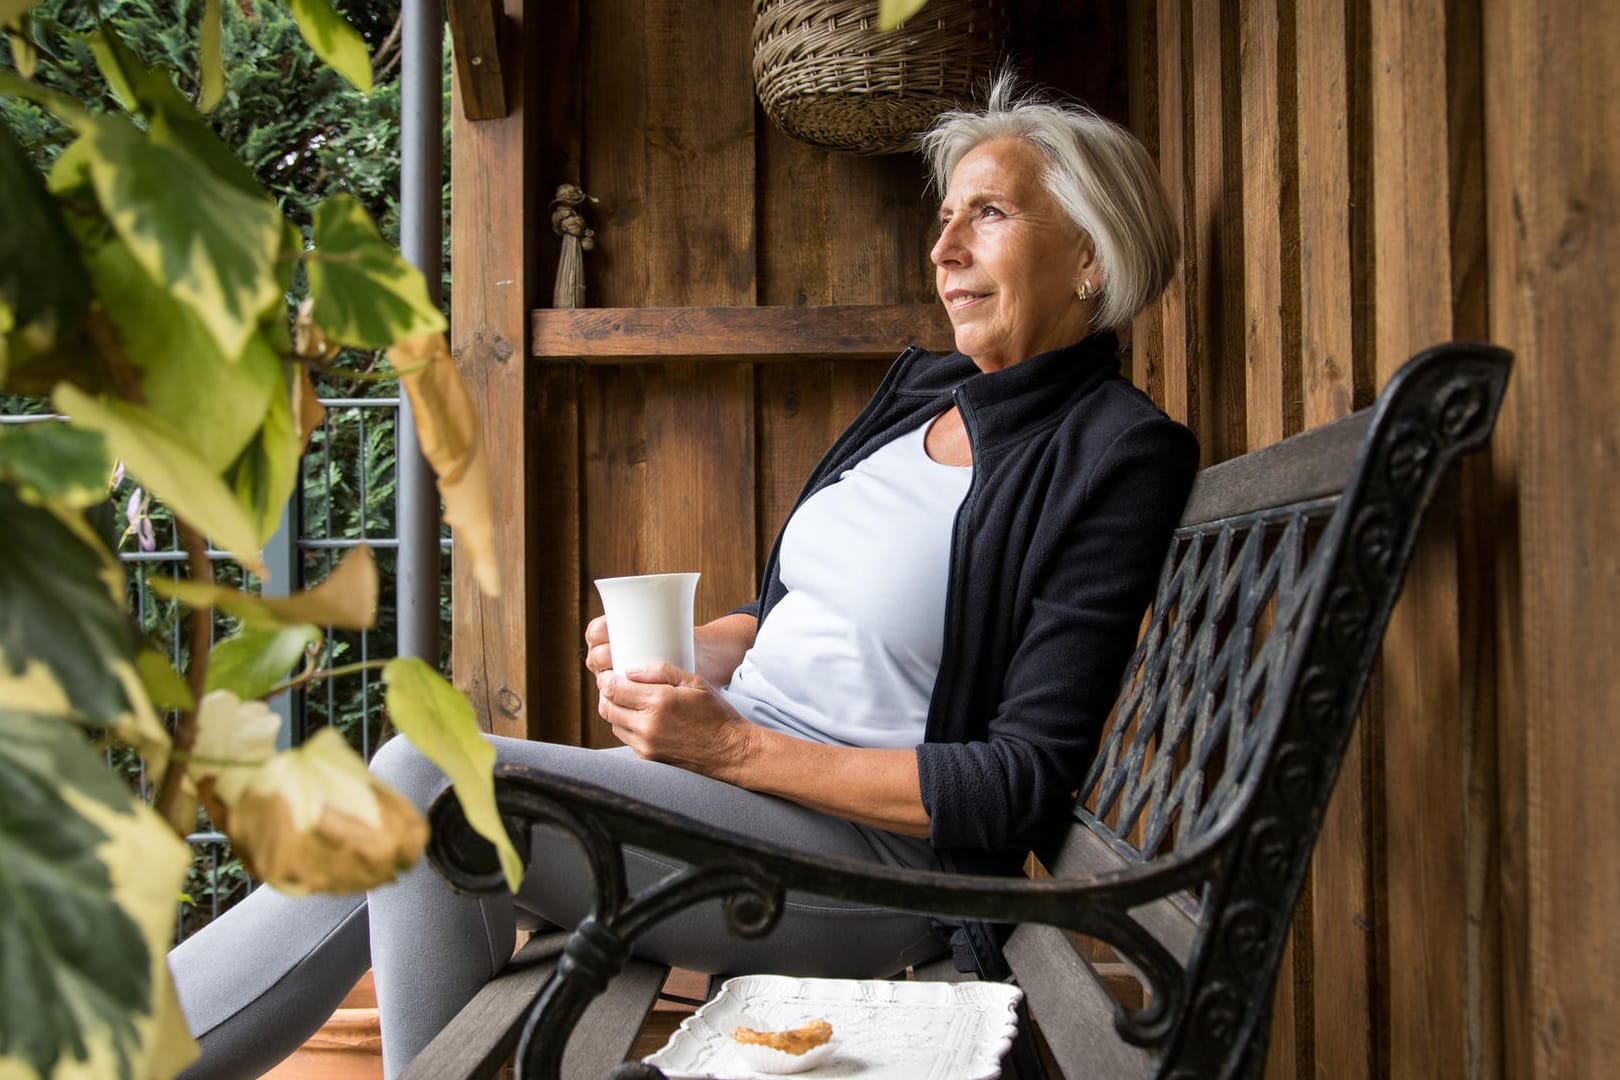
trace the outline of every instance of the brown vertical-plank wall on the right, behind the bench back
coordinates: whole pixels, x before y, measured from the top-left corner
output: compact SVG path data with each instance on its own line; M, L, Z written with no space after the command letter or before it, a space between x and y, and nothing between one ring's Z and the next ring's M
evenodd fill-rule
M1129 26L1186 246L1136 377L1207 463L1369 402L1430 343L1518 353L1390 627L1267 1075L1610 1075L1620 11L1144 0Z

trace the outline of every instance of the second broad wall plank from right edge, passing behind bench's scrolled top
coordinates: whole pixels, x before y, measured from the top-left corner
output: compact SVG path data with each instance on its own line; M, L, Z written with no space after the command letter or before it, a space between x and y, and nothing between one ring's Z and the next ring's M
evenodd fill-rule
M1374 0L1372 342L1379 381L1452 337L1445 10ZM1430 508L1383 643L1388 1033L1395 1077L1468 1075L1455 486Z

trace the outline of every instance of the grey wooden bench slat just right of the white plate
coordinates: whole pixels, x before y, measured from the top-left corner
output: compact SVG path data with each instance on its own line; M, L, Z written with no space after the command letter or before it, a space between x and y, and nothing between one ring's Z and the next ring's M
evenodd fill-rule
M1150 1054L1115 1035L1113 994L1061 929L1019 926L1006 959L1064 1077L1149 1075Z

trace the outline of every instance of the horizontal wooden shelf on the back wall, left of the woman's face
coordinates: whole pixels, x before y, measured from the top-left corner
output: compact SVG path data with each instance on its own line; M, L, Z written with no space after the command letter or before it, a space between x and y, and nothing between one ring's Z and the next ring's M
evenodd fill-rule
M893 359L954 337L940 304L541 308L531 329L533 356L588 364Z

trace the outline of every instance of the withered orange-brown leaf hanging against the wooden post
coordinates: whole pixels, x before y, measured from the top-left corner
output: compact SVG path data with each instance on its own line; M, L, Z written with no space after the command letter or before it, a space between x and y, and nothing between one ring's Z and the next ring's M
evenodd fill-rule
M478 411L442 334L424 334L389 350L410 398L423 457L439 478L444 520L457 547L473 565L484 596L501 594L496 563L494 502L489 457L478 431Z

